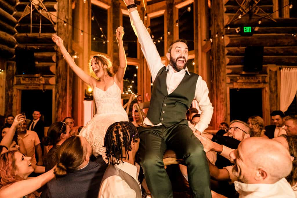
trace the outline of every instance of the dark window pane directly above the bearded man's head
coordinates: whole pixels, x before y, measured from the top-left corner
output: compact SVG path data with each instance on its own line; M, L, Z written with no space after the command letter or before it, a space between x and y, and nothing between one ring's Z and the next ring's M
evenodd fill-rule
M189 9L190 7L190 9ZM189 11L190 10L190 11ZM194 7L189 4L178 9L178 35L180 39L186 39L189 51L194 50Z

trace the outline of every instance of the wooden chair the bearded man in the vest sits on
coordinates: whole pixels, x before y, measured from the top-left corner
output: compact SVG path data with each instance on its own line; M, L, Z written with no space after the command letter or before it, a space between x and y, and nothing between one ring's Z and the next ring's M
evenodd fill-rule
M144 118L146 117L146 113L144 113L142 110L149 108L149 104L150 104L150 102L142 102L142 103L138 103L134 106L135 110L137 110L139 113L139 117L140 117L142 126L144 126L143 121L144 121ZM183 162L184 162L183 159L177 158L176 153L174 151L172 151L172 150L165 151L164 156L163 156L164 166L168 166L171 164L182 164Z

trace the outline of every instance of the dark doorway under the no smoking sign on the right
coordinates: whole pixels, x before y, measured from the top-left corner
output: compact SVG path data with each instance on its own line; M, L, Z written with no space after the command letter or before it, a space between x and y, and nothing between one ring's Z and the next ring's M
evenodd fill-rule
M263 117L262 89L230 89L230 121L247 122L253 115Z

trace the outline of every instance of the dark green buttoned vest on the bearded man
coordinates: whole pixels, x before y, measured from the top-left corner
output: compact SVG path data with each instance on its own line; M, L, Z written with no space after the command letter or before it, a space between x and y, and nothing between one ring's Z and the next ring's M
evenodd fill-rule
M151 92L147 117L154 125L161 122L165 127L170 127L186 119L186 112L195 97L199 75L192 72L189 75L186 72L177 88L171 94L168 94L167 73L168 70L166 71L164 66L157 74Z

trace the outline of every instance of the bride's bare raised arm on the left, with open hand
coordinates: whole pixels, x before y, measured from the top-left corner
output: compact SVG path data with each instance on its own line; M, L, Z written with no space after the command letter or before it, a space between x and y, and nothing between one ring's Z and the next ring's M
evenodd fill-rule
M67 64L70 66L70 68L75 72L78 77L83 80L83 82L87 83L93 88L93 85L91 83L91 76L86 74L79 66L77 66L70 56L70 54L67 52L66 48L63 45L63 40L58 37L56 34L52 35L53 42L56 43L56 45L60 48L62 55L64 56Z

